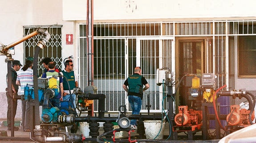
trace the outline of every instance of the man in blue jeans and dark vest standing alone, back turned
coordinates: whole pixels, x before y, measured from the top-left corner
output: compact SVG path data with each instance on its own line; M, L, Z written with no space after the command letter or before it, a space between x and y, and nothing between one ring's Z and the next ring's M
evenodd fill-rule
M143 85L145 87L143 88ZM129 88L128 88L129 87ZM141 68L135 67L134 74L126 79L123 89L128 93L128 101L132 108L132 114L139 114L142 105L143 91L149 88L146 78L141 75ZM137 129L136 120L131 120L131 128Z

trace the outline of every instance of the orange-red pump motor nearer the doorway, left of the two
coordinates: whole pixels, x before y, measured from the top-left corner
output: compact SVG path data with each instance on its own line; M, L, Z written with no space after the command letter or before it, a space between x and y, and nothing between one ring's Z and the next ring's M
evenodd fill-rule
M202 119L202 111L187 110L187 106L179 106L179 113L175 116L174 121L177 126L190 126L201 124Z

